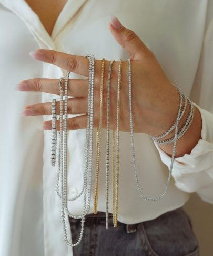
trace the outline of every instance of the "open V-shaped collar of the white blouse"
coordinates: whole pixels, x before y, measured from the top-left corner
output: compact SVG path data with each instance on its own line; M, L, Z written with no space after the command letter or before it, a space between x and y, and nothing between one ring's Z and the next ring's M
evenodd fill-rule
M0 0L0 3L19 16L48 48L55 50L54 39L86 1L87 0L67 0L57 17L51 35L46 31L37 13L32 10L25 0Z

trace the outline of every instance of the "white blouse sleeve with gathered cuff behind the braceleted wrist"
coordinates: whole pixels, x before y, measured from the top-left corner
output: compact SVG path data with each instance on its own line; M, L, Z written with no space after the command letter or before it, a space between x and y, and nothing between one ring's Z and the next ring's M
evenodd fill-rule
M199 65L190 98L202 118L201 139L190 154L176 157L173 167L175 185L186 192L196 192L213 204L213 1L209 1L206 29ZM164 164L170 167L171 157L155 143Z

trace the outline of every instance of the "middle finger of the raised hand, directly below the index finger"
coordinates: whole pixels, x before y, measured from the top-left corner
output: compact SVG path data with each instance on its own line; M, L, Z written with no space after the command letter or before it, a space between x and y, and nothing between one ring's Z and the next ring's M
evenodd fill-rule
M23 80L17 84L18 91L41 91L51 94L60 94L59 80L48 78L33 78ZM69 79L68 80L68 96L86 97L88 94L88 80L84 79Z

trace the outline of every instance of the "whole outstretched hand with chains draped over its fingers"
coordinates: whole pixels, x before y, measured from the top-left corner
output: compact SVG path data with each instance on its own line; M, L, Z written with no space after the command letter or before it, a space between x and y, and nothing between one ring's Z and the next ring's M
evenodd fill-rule
M116 17L111 18L109 29L117 42L129 53L132 66L133 122L135 132L159 135L174 124L179 106L179 94L167 79L154 54L139 37L120 24ZM31 54L36 60L48 62L76 74L88 76L88 59L53 50L37 50ZM106 128L106 81L110 61L105 61L104 108L102 127ZM118 61L113 64L110 84L110 129L116 126ZM99 122L100 73L102 60L95 61L94 87L94 126ZM123 61L120 99L120 130L130 131L128 63ZM57 79L34 78L18 84L19 91L42 91L59 94ZM85 114L69 118L68 129L81 129L87 126L88 80L69 79L69 114ZM56 103L59 115L59 102ZM38 103L26 106L24 115L52 115L52 103ZM45 121L43 128L52 129L52 121ZM59 121L56 123L59 130Z

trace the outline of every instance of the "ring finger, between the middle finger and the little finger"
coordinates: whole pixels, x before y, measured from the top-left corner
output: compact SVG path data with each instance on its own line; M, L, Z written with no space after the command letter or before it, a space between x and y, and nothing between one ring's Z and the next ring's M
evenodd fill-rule
M87 113L87 98L69 98L67 100L68 114L83 114ZM60 101L56 102L56 115L60 113ZM26 106L23 111L24 116L40 116L52 115L52 102L39 103Z

